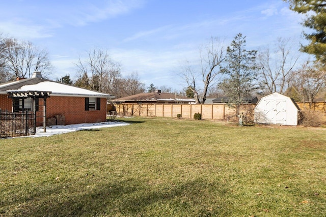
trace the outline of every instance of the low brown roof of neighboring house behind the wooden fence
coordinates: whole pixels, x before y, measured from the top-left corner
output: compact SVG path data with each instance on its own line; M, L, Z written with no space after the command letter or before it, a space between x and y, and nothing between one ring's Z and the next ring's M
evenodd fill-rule
M136 94L128 97L123 97L119 99L112 100L115 103L163 103L163 102L170 102L170 103L195 103L195 99L181 97L175 94L169 94L166 92L147 92L142 94Z

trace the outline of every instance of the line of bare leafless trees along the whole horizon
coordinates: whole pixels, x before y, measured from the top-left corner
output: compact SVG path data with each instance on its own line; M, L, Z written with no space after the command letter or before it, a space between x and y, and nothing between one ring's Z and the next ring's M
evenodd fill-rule
M225 95L221 83L227 76L223 70L230 61L227 50L224 41L212 37L200 48L197 63L186 61L180 66L178 74L185 83L183 91L193 92L196 103L204 103L207 96ZM259 48L255 58L257 78L248 85L259 85L260 88L251 94L265 96L279 92L310 103L317 96L326 98L324 64L314 61L302 63L299 54L293 49L290 39L279 38L274 44ZM121 64L113 60L107 50L94 48L86 56L79 57L75 66L77 79L71 81L68 78L70 84L106 92L116 98L146 90L137 72L122 76ZM29 41L6 38L0 34L0 80L29 78L35 71L42 72L46 77L52 70L45 49L39 49ZM166 86L160 88L164 92L177 92Z

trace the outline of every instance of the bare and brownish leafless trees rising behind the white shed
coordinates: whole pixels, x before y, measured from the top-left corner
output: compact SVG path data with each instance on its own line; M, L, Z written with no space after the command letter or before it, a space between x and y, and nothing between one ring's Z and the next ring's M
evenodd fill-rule
M322 64L309 60L300 62L300 53L293 51L290 39L279 38L273 47L273 52L267 47L258 56L262 95L279 92L310 104L319 93L322 98L326 87L326 73ZM326 101L326 96L323 97Z

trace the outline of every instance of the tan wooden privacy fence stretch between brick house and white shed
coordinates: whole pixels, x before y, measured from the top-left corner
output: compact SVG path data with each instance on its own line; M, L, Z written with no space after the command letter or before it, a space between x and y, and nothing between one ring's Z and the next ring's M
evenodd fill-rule
M240 106L249 121L253 120L256 105ZM203 119L233 120L236 118L235 109L226 104L116 104L116 112L125 116L157 116L193 118L195 113L201 113Z

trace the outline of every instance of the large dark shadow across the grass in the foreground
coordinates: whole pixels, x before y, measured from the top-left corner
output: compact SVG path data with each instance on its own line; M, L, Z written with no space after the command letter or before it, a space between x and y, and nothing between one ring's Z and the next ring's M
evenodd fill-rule
M137 180L124 180L109 182L98 185L95 189L74 192L65 198L53 198L53 193L61 192L65 195L67 189L50 188L46 192L30 195L29 199L34 203L24 203L11 213L14 216L140 216L161 215L164 207L171 209L174 204L176 213L185 213L188 209L194 209L194 216L204 214L205 216L217 214L218 207L206 209L202 204L205 195L201 192L213 190L217 195L226 194L226 189L215 191L214 186L219 183L207 183L204 180L195 179L177 185L171 185L162 189L148 189L143 184L135 184ZM35 202L38 201L37 206ZM17 201L19 204L24 201ZM160 209L155 207L159 206ZM162 206L162 207L161 207ZM169 208L170 207L170 208ZM162 210L161 210L162 209ZM213 211L215 210L215 211ZM196 213L199 212L199 213ZM0 213L1 215L1 213Z

